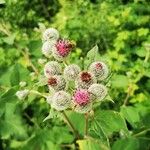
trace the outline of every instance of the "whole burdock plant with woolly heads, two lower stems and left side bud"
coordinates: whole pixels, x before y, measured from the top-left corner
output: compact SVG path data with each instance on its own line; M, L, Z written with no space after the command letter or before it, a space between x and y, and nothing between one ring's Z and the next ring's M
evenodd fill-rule
M105 81L109 75L108 66L99 59L93 59L93 56L90 62L88 61L87 67L66 63L75 44L68 39L61 39L56 29L46 29L42 41L41 52L47 58L47 62L43 67L43 77L40 82L43 82L48 92L43 94L35 90L23 89L16 95L19 99L25 99L30 93L43 96L51 110L63 114L77 138L81 137L65 111L85 114L85 136L87 136L89 114L94 112L95 106L104 101L107 96Z

